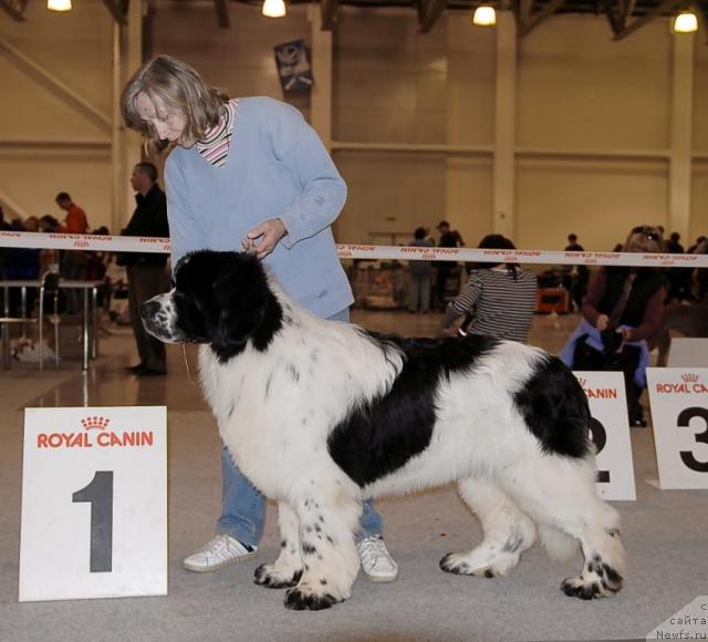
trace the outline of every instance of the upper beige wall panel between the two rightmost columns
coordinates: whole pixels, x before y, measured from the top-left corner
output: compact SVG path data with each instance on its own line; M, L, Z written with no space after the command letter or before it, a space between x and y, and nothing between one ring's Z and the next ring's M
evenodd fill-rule
M655 20L611 40L603 15L558 15L519 42L517 144L665 149L670 34Z

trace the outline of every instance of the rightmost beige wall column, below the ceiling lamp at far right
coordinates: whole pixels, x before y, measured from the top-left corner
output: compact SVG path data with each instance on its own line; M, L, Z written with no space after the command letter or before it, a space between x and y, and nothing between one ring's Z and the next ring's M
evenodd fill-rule
M690 230L695 40L693 33L673 35L669 213L666 231L677 231L686 241Z

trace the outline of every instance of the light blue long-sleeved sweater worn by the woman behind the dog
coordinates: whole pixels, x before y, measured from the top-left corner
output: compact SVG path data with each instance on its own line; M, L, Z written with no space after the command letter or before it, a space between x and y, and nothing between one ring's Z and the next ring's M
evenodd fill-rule
M240 99L226 165L210 165L194 147L176 147L165 184L173 266L192 250L240 251L247 232L280 218L288 234L263 262L285 292L319 317L353 302L330 227L346 185L294 107Z

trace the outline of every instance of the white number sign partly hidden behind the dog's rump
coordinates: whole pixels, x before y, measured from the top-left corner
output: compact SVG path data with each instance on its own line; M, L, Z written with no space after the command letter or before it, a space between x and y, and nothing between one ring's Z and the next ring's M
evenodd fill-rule
M597 493L603 499L637 498L632 462L624 375L621 372L575 372L593 416L597 448Z

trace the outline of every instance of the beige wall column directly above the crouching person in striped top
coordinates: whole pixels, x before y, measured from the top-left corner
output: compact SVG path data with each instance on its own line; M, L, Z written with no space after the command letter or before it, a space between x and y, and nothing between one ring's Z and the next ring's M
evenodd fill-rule
M517 120L517 27L510 11L497 11L493 229L513 238Z

